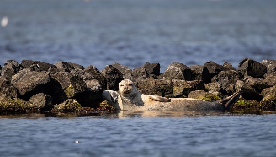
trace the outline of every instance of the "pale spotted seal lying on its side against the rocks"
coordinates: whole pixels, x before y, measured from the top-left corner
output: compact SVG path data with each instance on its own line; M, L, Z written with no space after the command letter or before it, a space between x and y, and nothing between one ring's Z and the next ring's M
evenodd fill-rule
M165 98L158 95L141 94L135 87L135 84L125 79L119 83L119 93L116 91L106 90L103 97L112 101L112 105L117 110L126 111L146 111L146 110L224 110L235 103L242 91L238 91L233 95L209 102L191 98Z

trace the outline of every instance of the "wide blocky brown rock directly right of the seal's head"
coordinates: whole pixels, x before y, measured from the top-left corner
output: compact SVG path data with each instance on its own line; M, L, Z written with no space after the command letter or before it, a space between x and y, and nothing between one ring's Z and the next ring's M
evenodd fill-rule
M135 82L135 84L137 90L142 94L164 97L172 97L173 95L173 82L171 80L146 78L145 80Z

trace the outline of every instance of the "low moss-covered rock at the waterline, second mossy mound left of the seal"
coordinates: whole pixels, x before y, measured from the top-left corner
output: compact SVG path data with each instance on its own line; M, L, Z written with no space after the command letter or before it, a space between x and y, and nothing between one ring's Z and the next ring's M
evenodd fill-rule
M52 108L52 112L77 112L82 106L76 99L67 99Z

